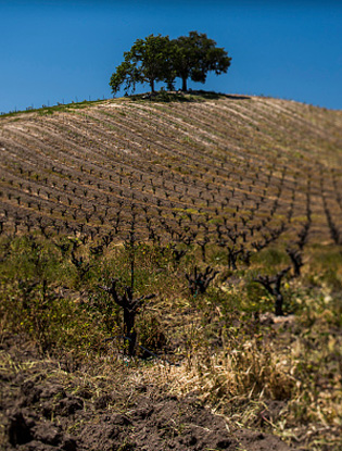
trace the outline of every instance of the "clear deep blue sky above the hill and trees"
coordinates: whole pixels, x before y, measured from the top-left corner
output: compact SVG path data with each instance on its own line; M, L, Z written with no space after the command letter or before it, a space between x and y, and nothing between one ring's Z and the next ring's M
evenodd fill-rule
M0 0L0 112L110 98L136 39L190 30L232 61L189 87L342 109L342 0Z

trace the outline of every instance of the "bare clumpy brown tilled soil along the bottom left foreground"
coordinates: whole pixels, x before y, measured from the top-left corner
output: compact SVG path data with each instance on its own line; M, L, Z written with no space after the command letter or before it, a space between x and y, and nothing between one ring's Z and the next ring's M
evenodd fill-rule
M292 449L278 437L233 429L194 397L123 384L42 359L20 337L0 343L0 448L12 451ZM123 369L124 371L124 369ZM119 375L118 375L119 377ZM123 379L124 380L124 379Z

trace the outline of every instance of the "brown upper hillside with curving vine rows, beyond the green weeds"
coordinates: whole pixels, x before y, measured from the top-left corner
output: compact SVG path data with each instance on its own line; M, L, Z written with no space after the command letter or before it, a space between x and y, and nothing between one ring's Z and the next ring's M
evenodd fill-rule
M309 223L341 239L342 112L190 96L71 104L0 120L3 227L244 242ZM201 228L202 226L202 228ZM241 235L242 234L242 235ZM193 235L192 235L193 236Z

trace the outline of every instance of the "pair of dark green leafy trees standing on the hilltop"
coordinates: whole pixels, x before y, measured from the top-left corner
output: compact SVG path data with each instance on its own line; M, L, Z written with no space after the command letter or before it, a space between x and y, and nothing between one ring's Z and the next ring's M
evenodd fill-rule
M216 75L227 73L231 61L225 49L198 32L177 39L161 35L137 39L111 77L113 95L122 85L125 85L126 93L134 92L138 83L148 83L152 92L156 82L163 82L168 90L174 90L176 78L181 79L181 90L187 91L189 78L205 83L211 71Z

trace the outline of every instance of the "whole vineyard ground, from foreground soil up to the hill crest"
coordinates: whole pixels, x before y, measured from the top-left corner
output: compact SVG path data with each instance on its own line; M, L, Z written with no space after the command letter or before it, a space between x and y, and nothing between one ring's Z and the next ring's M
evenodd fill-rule
M341 111L202 91L0 117L0 444L340 449L341 128ZM69 423L55 394L48 414L27 401L43 380L87 388ZM187 405L183 433L152 399L174 418ZM86 404L122 415L106 444Z

